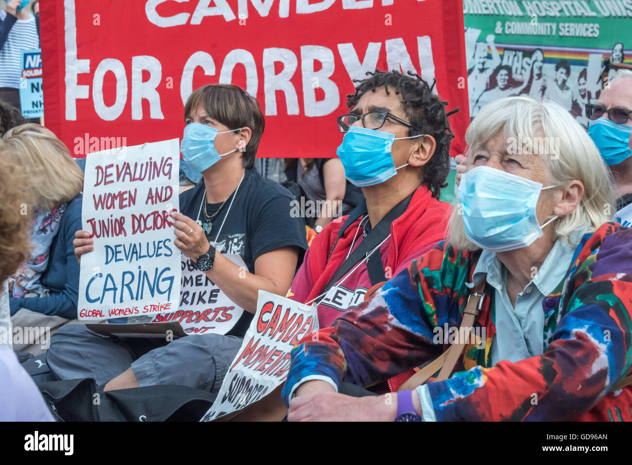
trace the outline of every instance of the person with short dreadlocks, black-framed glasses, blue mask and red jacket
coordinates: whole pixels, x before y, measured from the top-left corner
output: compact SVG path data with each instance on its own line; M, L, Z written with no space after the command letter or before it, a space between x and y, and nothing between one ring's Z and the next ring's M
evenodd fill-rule
M337 155L366 201L315 237L289 293L317 304L320 328L443 239L451 212L439 201L454 137L447 102L418 75L367 75L348 96L351 112L337 120Z

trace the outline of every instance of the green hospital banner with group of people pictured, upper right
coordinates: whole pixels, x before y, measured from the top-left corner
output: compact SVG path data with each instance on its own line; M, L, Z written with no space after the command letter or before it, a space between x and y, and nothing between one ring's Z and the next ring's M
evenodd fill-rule
M523 95L554 99L588 127L585 104L599 99L607 63L632 65L631 1L465 0L463 13L470 118Z

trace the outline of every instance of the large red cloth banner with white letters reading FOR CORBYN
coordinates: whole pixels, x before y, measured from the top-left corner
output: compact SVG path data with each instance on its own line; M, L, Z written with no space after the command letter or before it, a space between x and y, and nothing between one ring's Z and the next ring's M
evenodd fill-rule
M47 0L47 127L75 156L182 137L193 89L233 83L265 115L258 156L335 156L353 79L414 70L468 125L461 0Z

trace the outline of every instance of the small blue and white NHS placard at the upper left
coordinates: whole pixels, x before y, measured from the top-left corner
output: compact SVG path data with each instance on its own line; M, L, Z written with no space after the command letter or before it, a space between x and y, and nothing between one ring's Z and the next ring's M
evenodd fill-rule
M20 77L20 105L25 118L44 116L44 89L42 88L41 49L20 51L22 64Z

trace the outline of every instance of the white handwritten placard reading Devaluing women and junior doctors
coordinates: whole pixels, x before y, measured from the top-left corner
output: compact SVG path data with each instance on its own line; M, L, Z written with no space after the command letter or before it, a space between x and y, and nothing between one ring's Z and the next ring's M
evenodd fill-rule
M169 216L179 211L178 173L178 139L88 155L82 223L94 250L81 259L79 319L178 307L180 251Z

